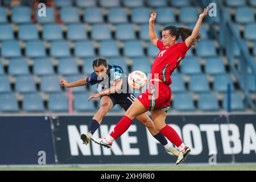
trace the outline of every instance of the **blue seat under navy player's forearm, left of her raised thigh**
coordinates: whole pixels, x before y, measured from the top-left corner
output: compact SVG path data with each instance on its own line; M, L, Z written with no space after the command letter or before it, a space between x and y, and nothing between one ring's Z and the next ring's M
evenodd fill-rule
M90 94L76 93L74 100L74 109L77 111L95 111L94 101L88 101Z

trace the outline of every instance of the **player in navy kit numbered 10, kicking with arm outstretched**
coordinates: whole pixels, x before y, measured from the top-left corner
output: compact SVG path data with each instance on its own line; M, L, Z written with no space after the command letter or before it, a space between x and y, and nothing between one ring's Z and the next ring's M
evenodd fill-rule
M98 127L100 127L102 119L115 104L121 105L126 111L136 99L134 94L131 93L129 86L127 86L127 77L125 74L123 74L123 69L121 67L118 65L107 64L105 59L97 59L93 61L93 69L94 72L86 79L77 80L71 83L68 83L66 80L60 81L60 85L67 88L86 84L98 84L98 86L101 87L101 92L93 94L88 99L90 100L91 98L100 97L101 106L96 114L94 114L93 119L89 124L88 133L81 135L81 139L84 144L89 143L94 132L98 129ZM146 112L138 115L136 118L147 127L152 136L158 140L164 146L164 148L166 148L167 152L171 152L175 156L179 155L179 151L172 147L172 144L168 142L168 140L164 138L164 136L159 133L158 130L155 129L152 120L150 117L148 117Z

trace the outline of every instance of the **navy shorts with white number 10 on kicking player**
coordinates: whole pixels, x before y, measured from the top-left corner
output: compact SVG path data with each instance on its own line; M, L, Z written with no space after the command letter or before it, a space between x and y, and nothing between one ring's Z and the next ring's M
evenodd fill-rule
M114 105L119 104L125 111L131 106L131 104L133 104L133 101L136 99L132 93L113 93L105 96L111 98L113 107ZM101 96L101 98L105 96Z

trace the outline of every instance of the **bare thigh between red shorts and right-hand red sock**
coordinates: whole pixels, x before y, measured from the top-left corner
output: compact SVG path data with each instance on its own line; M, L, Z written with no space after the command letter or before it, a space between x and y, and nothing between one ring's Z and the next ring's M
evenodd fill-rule
M151 117L156 130L161 130L164 126L166 126L166 116L167 113L163 110L151 110Z

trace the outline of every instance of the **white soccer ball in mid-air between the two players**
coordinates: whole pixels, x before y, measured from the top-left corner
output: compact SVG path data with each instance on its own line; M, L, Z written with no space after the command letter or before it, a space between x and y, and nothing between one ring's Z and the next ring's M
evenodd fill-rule
M128 84L134 90L140 90L147 84L147 76L142 71L133 71L128 76Z

